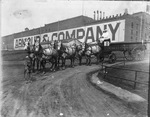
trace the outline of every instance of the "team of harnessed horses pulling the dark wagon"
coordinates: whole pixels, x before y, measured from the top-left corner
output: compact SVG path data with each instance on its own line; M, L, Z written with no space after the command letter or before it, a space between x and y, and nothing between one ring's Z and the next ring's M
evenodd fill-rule
M32 70L42 69L45 71L46 63L51 63L51 71L66 68L66 60L70 59L71 67L74 67L75 59L79 60L79 65L82 64L82 58L86 58L86 65L91 65L91 57L94 55L97 58L97 63L100 62L102 56L103 44L100 40L94 43L82 43L79 40L72 39L65 41L49 41L40 44L35 41L34 45L29 43L26 45L26 51L31 61Z

